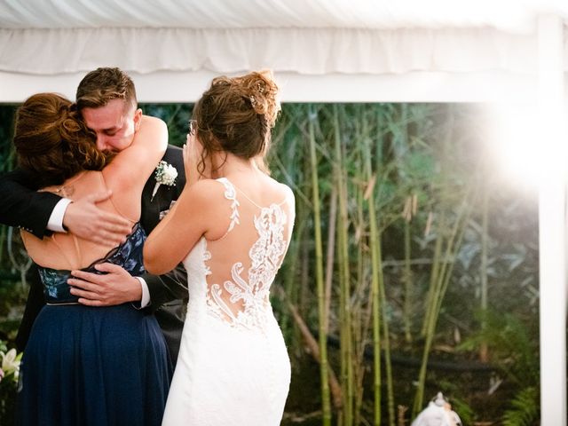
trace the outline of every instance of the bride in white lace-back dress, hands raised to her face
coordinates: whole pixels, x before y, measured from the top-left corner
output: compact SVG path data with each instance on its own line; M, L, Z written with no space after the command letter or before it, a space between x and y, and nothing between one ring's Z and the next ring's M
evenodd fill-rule
M269 290L295 204L264 166L277 94L267 72L213 80L193 109L185 189L146 241L146 270L183 259L190 294L163 425L280 424L290 363Z

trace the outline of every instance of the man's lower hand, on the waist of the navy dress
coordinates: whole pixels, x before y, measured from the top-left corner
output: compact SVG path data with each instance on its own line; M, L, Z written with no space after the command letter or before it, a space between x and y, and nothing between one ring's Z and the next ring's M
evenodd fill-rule
M121 266L116 264L95 265L104 275L84 271L72 271L75 278L67 283L71 294L79 296L79 303L88 306L113 306L128 302L139 302L142 298L140 281L132 277Z

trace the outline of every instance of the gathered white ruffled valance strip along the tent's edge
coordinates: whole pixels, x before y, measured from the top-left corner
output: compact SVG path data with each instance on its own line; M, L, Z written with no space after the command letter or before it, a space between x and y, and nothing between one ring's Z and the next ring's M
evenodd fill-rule
M113 65L304 75L507 70L533 74L536 37L493 28L4 28L0 70L57 75ZM565 61L568 64L568 60Z

